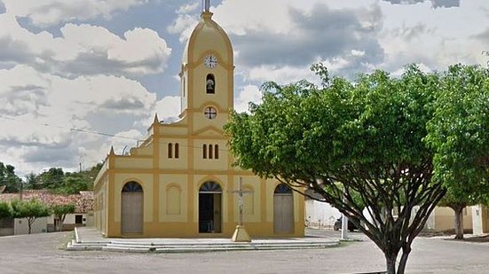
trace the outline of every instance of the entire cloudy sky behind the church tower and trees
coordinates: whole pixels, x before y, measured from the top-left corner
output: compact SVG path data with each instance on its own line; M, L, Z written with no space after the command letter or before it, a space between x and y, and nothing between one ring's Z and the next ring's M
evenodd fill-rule
M406 63L485 65L487 0L212 0L235 51L235 106L264 81ZM201 0L0 0L0 161L17 174L89 168L157 113L179 114L177 74ZM102 134L95 134L99 132Z

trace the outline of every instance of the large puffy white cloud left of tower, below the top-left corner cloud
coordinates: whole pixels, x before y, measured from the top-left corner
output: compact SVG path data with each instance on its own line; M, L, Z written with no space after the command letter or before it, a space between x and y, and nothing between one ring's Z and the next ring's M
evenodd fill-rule
M0 64L27 64L51 74L156 74L167 67L171 54L165 40L147 28L126 31L122 39L105 27L86 24L67 24L60 37L34 34L9 14L0 14L0 25Z

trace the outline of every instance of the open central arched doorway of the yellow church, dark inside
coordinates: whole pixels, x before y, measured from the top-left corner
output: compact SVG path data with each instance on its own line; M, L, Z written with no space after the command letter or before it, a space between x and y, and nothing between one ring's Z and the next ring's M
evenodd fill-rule
M219 184L206 182L199 189L199 233L221 233L221 200Z

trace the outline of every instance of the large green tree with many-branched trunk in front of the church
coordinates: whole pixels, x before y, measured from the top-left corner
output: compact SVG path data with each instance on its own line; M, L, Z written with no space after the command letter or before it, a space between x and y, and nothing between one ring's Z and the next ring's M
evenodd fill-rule
M269 82L261 105L232 115L225 130L236 162L296 192L312 188L375 242L388 273L403 273L446 192L431 181L434 152L423 142L439 75L412 66L397 78L375 71L349 82L314 69L322 87Z

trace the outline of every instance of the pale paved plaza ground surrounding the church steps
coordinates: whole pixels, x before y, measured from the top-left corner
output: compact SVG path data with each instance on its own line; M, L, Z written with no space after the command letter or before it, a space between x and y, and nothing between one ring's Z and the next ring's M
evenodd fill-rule
M308 234L338 238L335 231ZM355 238L363 238L353 233ZM384 270L383 254L369 241L304 250L133 254L66 251L72 232L0 238L0 273L366 273ZM408 273L487 273L489 244L418 238Z

